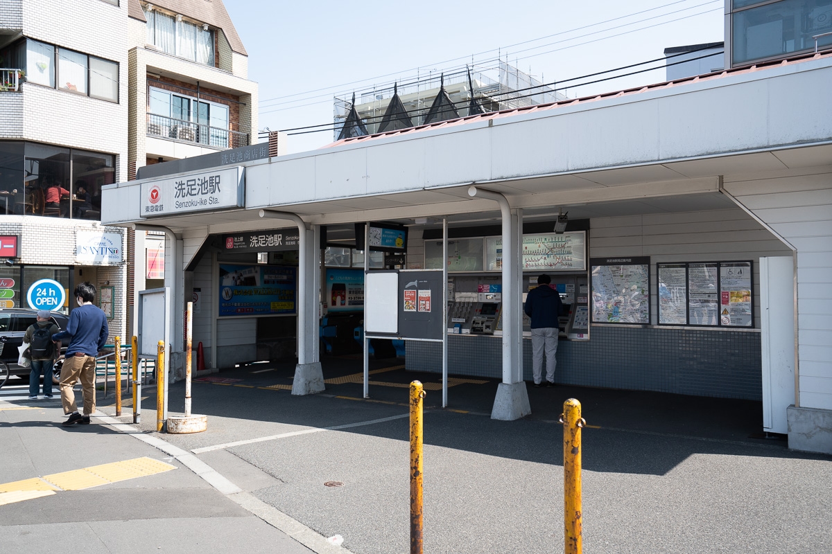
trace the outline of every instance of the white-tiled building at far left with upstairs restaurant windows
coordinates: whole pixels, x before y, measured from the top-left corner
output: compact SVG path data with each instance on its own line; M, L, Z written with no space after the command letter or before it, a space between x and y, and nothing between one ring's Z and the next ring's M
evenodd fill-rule
M127 177L126 37L117 0L0 0L0 307L44 307L47 279L64 292L47 307L67 313L90 281L111 338L126 233L102 227L101 188Z

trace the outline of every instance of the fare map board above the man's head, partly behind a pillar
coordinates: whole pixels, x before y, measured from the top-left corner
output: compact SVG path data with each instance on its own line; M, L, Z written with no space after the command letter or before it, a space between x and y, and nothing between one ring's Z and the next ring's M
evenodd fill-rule
M503 268L503 238L487 239L486 267ZM587 233L541 233L522 236L522 271L586 271Z

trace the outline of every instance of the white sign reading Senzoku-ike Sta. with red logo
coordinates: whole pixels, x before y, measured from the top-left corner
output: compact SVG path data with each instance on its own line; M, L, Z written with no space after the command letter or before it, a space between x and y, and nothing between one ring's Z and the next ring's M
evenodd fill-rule
M245 168L201 169L141 184L140 218L245 206Z

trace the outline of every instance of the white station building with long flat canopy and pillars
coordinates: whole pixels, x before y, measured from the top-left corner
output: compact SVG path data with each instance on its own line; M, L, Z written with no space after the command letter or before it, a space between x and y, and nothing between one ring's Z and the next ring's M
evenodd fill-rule
M800 53L301 154L160 164L106 187L104 221L166 233L171 321L198 288L209 366L271 359L263 345L295 326L295 394L323 388L324 305L363 294L330 270L366 249L370 271L448 268L448 303L433 301L448 370L502 378L493 417L529 413L521 302L547 272L571 306L557 381L762 400L763 429L830 453L830 85L832 53ZM442 367L437 343L406 349L407 369Z

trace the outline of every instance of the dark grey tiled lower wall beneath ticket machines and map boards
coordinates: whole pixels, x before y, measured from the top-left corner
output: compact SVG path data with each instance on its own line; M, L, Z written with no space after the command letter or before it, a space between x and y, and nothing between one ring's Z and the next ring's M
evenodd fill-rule
M408 370L442 372L442 346L406 343ZM502 341L448 336L448 373L499 378ZM545 360L543 362L545 373ZM532 341L523 339L523 379L532 380ZM762 399L760 333L593 326L591 341L560 341L555 381L679 395Z

